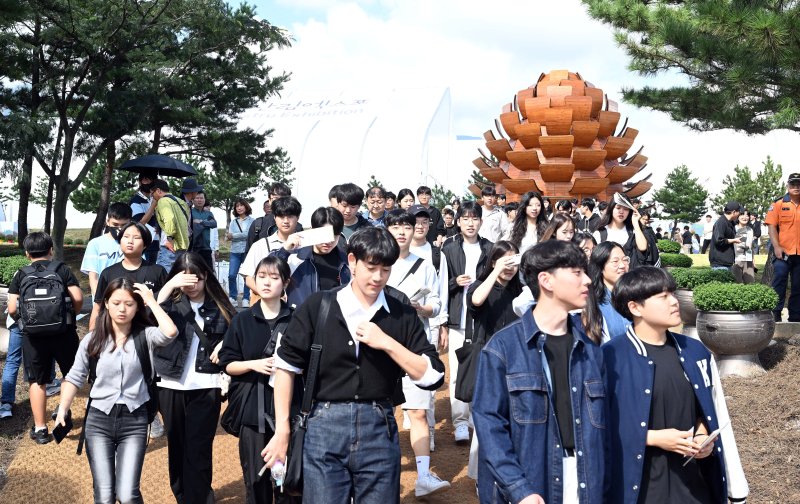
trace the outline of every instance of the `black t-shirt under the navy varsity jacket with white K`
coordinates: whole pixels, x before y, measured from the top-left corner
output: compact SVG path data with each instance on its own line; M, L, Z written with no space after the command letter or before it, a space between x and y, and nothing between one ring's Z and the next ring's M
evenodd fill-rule
M700 407L692 384L678 360L674 342L667 339L664 345L644 345L655 372L648 429L694 429ZM698 461L692 460L683 467L684 460L678 453L648 446L645 450L639 504L712 502Z

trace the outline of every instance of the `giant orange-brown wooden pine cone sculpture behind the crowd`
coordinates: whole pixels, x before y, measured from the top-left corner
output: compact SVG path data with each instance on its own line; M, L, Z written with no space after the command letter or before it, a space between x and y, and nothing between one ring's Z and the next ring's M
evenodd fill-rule
M495 126L500 137L484 133L486 148L473 161L480 173L518 201L528 191L553 199L592 197L608 201L614 193L643 195L652 187L649 175L631 183L647 163L642 148L628 149L639 131L618 129L617 103L578 73L553 70L535 86L519 91L503 107ZM505 131L505 135L503 134ZM480 198L481 188L470 186Z

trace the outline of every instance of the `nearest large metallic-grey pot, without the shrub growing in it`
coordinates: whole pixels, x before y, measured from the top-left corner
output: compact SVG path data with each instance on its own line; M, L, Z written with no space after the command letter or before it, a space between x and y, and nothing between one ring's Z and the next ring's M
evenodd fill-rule
M771 311L698 311L697 334L717 355L720 376L752 377L766 373L758 352L775 333Z

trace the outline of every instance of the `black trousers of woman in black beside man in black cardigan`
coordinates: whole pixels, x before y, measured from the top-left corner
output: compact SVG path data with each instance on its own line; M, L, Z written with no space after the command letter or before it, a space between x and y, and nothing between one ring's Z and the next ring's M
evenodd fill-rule
M245 502L247 504L300 504L301 497L290 497L281 493L279 488L272 486L270 471L267 470L261 479L258 478L258 471L264 466L264 459L261 457L261 450L274 432L267 425L267 432L259 434L257 427L242 425L239 431L239 460L242 463L242 475L244 476L244 488L246 491Z

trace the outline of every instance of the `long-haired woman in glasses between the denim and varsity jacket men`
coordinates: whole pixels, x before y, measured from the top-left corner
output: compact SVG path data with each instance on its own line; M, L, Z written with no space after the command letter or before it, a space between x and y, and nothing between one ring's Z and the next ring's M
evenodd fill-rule
M587 309L584 310L591 320L589 324L584 320L587 334L602 332L604 342L625 334L630 322L614 309L611 304L611 292L617 280L628 272L629 267L630 258L616 242L600 243L592 251L587 274L592 280L590 298L593 298L594 302L587 303ZM597 312L593 310L595 307L601 317L597 317Z

